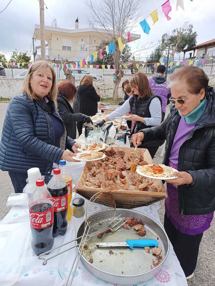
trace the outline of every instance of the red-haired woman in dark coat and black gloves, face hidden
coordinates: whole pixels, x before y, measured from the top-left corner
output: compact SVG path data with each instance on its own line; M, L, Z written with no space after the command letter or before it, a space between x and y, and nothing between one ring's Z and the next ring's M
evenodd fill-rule
M68 135L74 139L76 139L76 122L92 122L90 117L85 114L74 114L69 100L72 100L76 93L77 89L70 81L64 80L59 83L57 96L58 112L66 125Z

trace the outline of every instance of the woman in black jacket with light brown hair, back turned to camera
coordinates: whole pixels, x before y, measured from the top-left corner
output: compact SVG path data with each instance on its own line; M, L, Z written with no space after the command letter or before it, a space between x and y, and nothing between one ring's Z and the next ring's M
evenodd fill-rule
M86 75L82 80L82 83L78 87L78 101L79 101L79 112L88 116L93 116L98 112L98 101L100 96L97 94L93 86L93 77ZM79 123L78 132L79 135L82 133L82 124ZM77 125L78 127L78 125Z

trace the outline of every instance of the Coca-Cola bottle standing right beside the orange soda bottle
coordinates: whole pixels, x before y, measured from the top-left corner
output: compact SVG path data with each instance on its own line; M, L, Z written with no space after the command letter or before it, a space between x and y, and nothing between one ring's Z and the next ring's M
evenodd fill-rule
M53 177L47 185L47 189L53 198L54 224L53 236L64 235L67 231L67 184L60 175L60 169L54 168Z

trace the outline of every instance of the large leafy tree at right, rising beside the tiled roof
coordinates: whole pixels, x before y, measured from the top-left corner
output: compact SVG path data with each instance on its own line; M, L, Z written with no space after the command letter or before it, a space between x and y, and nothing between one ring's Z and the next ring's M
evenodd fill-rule
M172 34L167 33L162 35L161 46L162 49L166 49L170 44L170 55L174 58L175 53L181 52L185 48L191 48L196 45L197 33L193 32L193 25L184 23L181 28L172 30Z

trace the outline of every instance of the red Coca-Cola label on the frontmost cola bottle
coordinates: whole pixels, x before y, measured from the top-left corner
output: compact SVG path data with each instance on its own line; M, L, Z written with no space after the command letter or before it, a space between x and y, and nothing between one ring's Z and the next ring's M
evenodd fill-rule
M45 229L54 222L53 207L45 212L33 212L29 209L30 226L33 229Z

